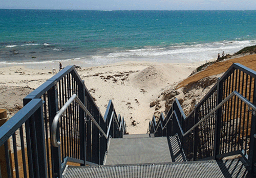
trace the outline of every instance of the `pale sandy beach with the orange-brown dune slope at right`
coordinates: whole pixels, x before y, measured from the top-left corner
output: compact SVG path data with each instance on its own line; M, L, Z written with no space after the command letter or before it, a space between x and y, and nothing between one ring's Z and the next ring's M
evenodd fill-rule
M193 75L195 77L188 76L205 61L196 63L127 61L101 66L89 66L81 62L68 61L62 62L62 66L77 65L81 67L77 71L95 98L102 115L105 113L109 100L112 99L116 112L121 114L126 121L127 132L129 134L143 134L147 132L148 122L154 113L159 114L165 111L167 107L165 95L173 92L178 84L187 85L189 81L198 82L200 79L211 75L215 76L212 79L216 79L217 74L223 73L233 62L243 62L246 59L248 60L247 65L249 65L255 63L252 61L255 61L256 57L250 55L216 63L214 65L218 65L218 67L212 65L208 70L202 71L202 73L207 71L205 76L199 72ZM214 60L216 59L212 59L212 61ZM221 70L220 66L223 66L224 69ZM22 99L27 94L55 74L53 67L58 72L58 62L51 63L51 65L44 63L40 65L0 66L0 108L8 110L9 118L23 107ZM216 68L218 70L213 73L212 70L216 70ZM212 82L208 82L206 87L195 90L197 101L204 96L215 81L212 80ZM188 107L189 110L191 103L194 102L195 104L195 98L194 100L191 97L188 98L182 93L182 89L179 90L176 97L181 99L184 107ZM154 102L156 105L151 106L151 103Z

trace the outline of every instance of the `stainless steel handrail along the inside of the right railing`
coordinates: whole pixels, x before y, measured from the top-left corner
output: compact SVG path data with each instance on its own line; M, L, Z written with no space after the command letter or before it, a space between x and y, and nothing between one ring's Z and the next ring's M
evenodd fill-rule
M252 110L256 111L256 107L248 100L246 99L243 95L241 95L239 92L237 91L233 91L232 93L230 93L223 101L221 101L221 103L215 107L213 110L211 110L211 112L209 112L209 114L207 114L203 119L201 119L199 122L197 122L193 127L191 127L186 133L184 133L184 131L181 128L180 122L178 120L178 117L176 117L176 120L178 122L179 128L181 130L182 136L186 136L188 133L190 133L191 131L193 131L200 123L202 123L205 119L207 119L212 113L214 113L216 110L218 110L220 107L222 107L231 97L233 97L234 95L236 95L237 97L239 97L242 101L244 101L244 103L246 105L248 105L250 108L252 108Z

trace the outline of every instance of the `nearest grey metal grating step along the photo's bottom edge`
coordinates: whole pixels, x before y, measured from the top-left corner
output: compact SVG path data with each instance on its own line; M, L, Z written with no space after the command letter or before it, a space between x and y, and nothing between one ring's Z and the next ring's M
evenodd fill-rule
M239 160L194 161L158 165L126 165L99 167L67 167L63 178L120 177L252 177Z

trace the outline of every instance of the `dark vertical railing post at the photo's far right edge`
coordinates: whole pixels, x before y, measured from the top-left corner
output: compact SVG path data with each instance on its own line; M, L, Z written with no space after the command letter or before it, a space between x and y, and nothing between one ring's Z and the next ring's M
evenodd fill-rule
M253 88L253 105L256 105L256 79L254 79ZM256 113L252 111L251 118L251 135L250 135L250 145L249 145L249 166L252 173L256 174Z

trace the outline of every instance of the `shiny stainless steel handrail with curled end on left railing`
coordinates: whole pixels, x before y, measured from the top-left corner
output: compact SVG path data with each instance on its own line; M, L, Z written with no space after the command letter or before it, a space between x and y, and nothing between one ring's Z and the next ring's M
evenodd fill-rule
M77 97L76 94L73 94L69 100L67 101L67 103L65 105L63 105L63 107L57 112L57 114L55 115L53 122L52 122L52 127L51 127L51 142L53 144L53 146L58 147L60 145L60 142L57 141L57 125L59 122L59 118L61 117L61 115L66 111L66 109L71 105L71 103L73 101L76 101L78 103L78 105L82 108L82 110L84 112L86 112L86 114L92 119L92 121L94 122L94 124L97 126L97 128L99 129L99 131L104 135L104 137L106 139L108 139L108 135L105 134L105 132L101 129L100 125L98 124L98 122L93 118L93 116L91 115L91 113L87 110L87 108L82 104L81 100ZM112 113L113 115L113 113Z

